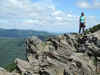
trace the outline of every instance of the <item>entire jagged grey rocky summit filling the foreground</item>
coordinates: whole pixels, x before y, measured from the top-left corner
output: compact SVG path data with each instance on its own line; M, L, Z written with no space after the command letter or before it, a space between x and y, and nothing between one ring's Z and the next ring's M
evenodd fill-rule
M0 68L0 75L100 75L100 31L57 35L45 42L33 36L25 47L27 60L17 58L16 69Z

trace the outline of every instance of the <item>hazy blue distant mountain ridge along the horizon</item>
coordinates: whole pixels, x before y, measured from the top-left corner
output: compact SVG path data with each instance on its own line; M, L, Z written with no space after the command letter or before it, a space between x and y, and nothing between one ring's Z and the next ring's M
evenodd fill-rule
M53 33L35 30L18 30L18 29L2 29L0 28L0 37L9 38L27 38L29 36L38 36L40 38L54 35Z

